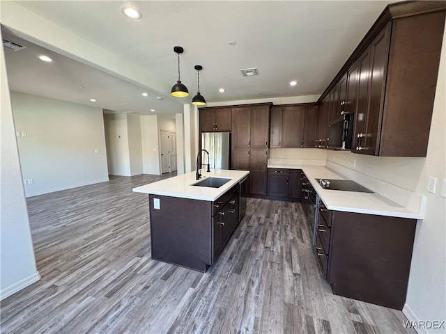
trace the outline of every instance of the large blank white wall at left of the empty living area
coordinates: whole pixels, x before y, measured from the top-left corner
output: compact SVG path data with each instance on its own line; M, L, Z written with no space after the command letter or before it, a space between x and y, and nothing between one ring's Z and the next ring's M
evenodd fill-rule
M102 109L10 92L26 196L108 181ZM95 153L98 150L98 153Z

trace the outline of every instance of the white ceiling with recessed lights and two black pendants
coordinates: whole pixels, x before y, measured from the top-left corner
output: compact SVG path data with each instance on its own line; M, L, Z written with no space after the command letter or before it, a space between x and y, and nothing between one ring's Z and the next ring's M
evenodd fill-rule
M201 94L208 102L224 102L321 94L390 2L394 1L133 1L143 13L138 21L121 14L121 6L128 4L124 1L17 4L132 63L161 86L176 82L173 48L180 45L185 49L181 80L190 90L189 100L197 93L194 65L202 65ZM230 40L236 45L229 45ZM25 51L16 54L21 52ZM148 108L153 108L167 113L181 112L178 103L189 103L188 98L169 97L169 91L149 91L148 99L141 99L141 91L150 87L98 70L89 72L91 67L59 57L60 63L43 64L56 67L43 86L42 68L38 69L42 64L6 53L11 89L77 101L91 92L66 86L89 86L79 84L84 79L96 87L98 96L108 93L108 103L100 104L105 109L150 113ZM259 76L242 77L239 70L247 67L258 67ZM295 87L289 86L293 79L299 83ZM219 88L226 92L219 93ZM158 95L164 97L162 103L148 103Z

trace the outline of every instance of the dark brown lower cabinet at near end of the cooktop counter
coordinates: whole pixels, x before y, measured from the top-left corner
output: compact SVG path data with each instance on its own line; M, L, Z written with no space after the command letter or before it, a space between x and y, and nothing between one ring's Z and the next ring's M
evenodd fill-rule
M332 292L402 310L416 222L352 212L319 214L315 250Z

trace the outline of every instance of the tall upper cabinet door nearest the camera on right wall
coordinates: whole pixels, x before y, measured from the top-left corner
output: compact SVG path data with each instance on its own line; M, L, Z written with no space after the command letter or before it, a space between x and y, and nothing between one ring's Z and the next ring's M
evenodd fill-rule
M380 126L383 115L385 76L389 55L390 24L371 43L370 55L370 96L367 111L367 125L364 141L361 142L362 154L378 155Z

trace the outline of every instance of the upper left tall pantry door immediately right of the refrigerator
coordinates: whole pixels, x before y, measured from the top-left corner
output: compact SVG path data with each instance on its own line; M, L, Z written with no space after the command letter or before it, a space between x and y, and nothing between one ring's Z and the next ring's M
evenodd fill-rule
M231 133L233 148L248 148L251 136L251 107L231 109ZM234 169L238 169L233 167Z

